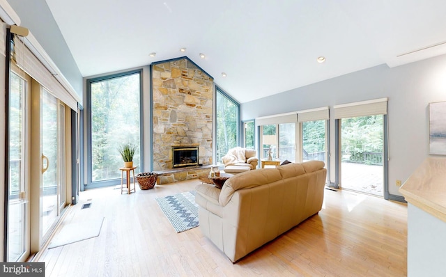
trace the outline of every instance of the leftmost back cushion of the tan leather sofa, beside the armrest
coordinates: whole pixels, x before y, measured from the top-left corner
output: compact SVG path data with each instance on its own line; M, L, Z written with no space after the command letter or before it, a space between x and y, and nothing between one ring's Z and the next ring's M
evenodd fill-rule
M282 179L282 175L276 168L263 168L255 171L247 171L230 177L222 187L218 202L226 206L231 200L233 193L238 189L249 189L263 184L270 184Z

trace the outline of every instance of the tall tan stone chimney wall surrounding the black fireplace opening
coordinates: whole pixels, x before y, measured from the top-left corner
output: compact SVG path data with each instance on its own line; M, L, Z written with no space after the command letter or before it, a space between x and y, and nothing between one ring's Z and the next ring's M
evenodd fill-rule
M153 171L172 168L172 146L199 146L212 164L213 78L187 58L152 67Z

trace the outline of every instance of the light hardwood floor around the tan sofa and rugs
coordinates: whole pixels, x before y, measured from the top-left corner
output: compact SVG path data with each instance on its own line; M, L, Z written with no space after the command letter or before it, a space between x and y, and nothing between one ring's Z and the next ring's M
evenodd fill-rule
M63 224L105 217L98 237L47 249L45 276L406 276L407 205L325 189L321 212L232 264L199 228L176 233L155 198L190 180L121 195L82 192ZM80 209L91 203L89 209ZM35 261L36 262L36 261Z

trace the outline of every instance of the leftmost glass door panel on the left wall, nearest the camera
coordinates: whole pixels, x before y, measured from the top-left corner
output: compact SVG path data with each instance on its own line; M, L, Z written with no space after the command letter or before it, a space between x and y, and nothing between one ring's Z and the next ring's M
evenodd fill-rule
M23 262L29 255L29 78L10 72L8 114L8 262Z

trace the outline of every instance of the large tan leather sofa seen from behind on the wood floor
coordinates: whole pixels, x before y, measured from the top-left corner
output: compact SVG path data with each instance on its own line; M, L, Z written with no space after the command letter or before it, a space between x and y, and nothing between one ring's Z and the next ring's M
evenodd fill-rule
M323 161L286 164L230 177L222 189L199 184L201 232L232 262L321 210Z

